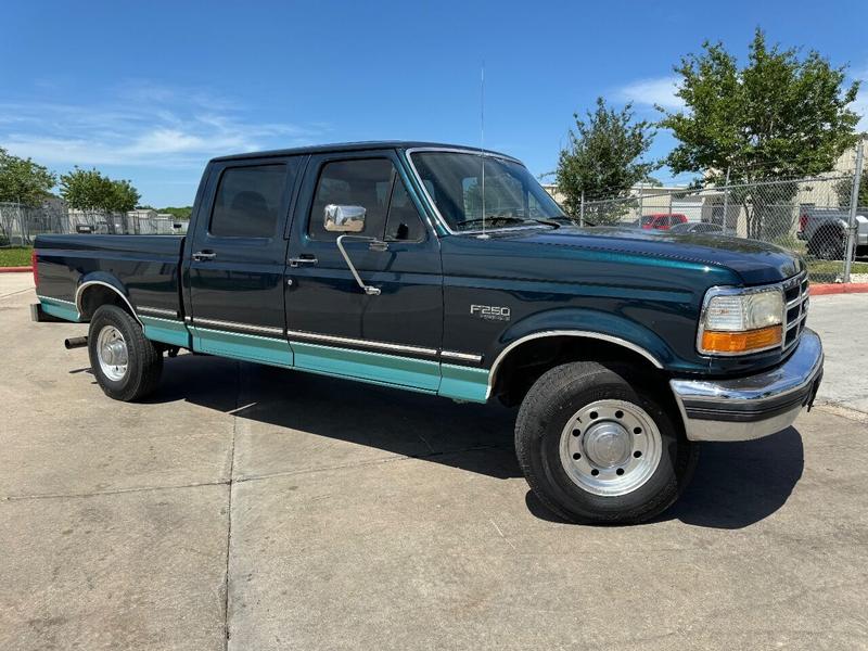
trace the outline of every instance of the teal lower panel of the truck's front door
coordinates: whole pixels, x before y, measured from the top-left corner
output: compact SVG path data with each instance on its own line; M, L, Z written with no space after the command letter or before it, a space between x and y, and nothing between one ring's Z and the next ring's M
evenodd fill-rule
M339 378L436 393L439 363L425 359L292 342L295 368Z

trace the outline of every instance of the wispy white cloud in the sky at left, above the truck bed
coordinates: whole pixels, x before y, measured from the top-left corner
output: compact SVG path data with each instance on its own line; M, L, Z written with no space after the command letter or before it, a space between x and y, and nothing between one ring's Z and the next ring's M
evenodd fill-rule
M99 103L0 103L0 146L50 166L199 168L215 155L308 144L324 130L264 123L225 98L148 82Z

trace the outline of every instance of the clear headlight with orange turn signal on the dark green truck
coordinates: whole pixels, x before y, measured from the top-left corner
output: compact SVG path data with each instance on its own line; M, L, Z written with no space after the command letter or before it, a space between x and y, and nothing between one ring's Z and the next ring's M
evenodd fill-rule
M744 355L781 345L781 288L712 288L705 294L697 349L703 355Z

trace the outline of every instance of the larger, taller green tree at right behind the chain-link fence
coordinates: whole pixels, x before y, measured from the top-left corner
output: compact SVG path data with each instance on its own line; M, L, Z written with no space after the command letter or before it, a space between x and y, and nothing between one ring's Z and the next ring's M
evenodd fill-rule
M704 42L675 67L685 108L666 112L660 127L679 144L666 163L673 173L704 175L720 183L813 176L830 170L857 140L859 117L847 108L859 85L845 86L846 66L833 67L815 51L769 47L756 29L743 67L723 43ZM797 183L776 188L775 203L792 201ZM733 192L748 215L748 235L776 237L789 229L768 192Z

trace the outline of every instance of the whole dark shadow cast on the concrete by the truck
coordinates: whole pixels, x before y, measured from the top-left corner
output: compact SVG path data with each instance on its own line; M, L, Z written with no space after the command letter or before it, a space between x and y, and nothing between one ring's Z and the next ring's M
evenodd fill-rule
M182 355L166 367L149 401L187 400L258 423L247 455L261 459L266 473L353 464L375 448L496 478L522 476L515 409L207 356ZM749 526L786 503L803 468L793 427L758 441L703 444L692 483L658 521ZM526 503L535 516L560 521L529 492Z

